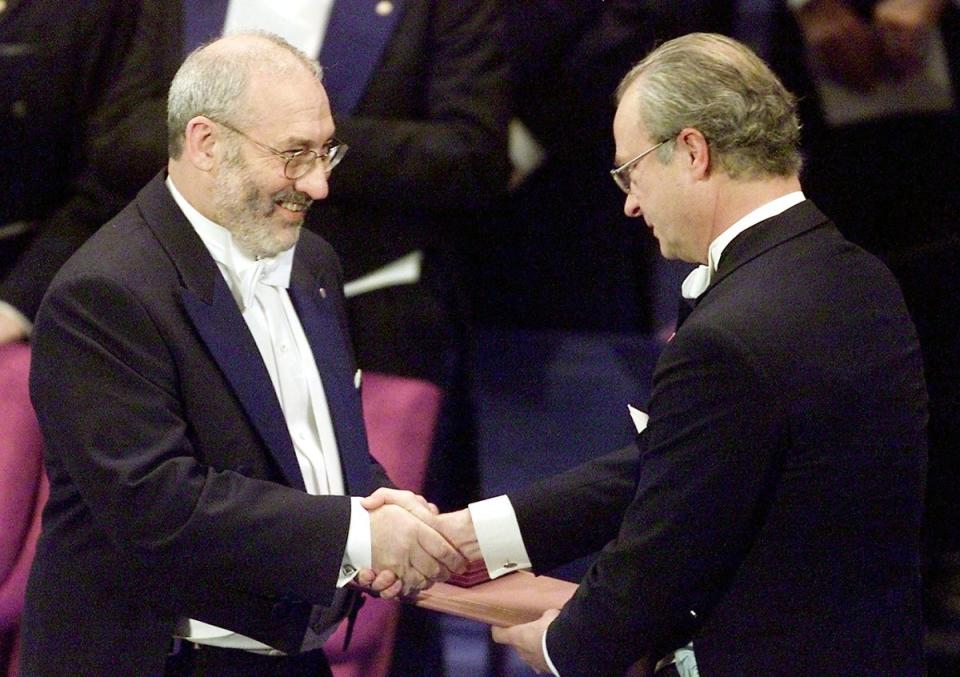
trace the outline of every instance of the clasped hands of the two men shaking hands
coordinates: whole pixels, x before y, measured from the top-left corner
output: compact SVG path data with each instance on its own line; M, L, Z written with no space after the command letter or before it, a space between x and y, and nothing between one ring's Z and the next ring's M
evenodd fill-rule
M377 489L362 499L370 515L372 569L356 583L392 599L425 590L481 558L469 510L439 514L422 496Z

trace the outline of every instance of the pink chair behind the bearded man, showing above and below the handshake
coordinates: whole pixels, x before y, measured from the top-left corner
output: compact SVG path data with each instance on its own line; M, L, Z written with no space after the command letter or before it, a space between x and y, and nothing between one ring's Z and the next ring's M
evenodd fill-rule
M394 484L420 493L443 392L427 381L365 372L361 393L371 453ZM327 641L325 649L336 677L386 675L398 617L395 602L368 598L349 650L341 650L344 626Z

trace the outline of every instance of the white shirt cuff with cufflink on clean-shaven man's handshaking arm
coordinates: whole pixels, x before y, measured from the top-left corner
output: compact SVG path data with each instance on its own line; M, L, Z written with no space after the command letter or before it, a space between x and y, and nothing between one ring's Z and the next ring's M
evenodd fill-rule
M530 568L530 556L509 498L497 496L467 507L490 578Z

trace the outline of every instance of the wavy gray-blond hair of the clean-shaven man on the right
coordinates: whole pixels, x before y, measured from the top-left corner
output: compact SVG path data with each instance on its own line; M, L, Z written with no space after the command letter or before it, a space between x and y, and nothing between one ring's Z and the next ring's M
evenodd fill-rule
M623 78L618 102L638 79L640 118L651 140L669 142L657 153L661 162L668 161L676 135L692 127L730 178L799 173L796 98L736 40L691 33L665 42Z

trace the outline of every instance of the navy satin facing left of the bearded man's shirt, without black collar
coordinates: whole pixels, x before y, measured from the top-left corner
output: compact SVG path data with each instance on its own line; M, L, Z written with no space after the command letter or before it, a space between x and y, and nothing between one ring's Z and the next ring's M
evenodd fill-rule
M283 471L287 483L305 490L303 474L270 374L227 283L221 275L215 277L211 303L187 288L183 288L180 295L193 325Z

